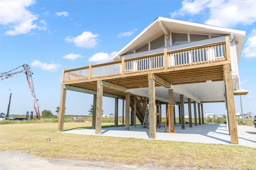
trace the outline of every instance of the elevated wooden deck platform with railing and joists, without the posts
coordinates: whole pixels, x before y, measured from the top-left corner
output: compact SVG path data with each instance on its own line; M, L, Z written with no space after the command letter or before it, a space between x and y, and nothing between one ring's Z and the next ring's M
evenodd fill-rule
M130 88L148 87L148 74L153 73L168 82L168 86L198 82L223 81L223 65L230 63L225 54L225 42L178 51L167 51L132 59L63 70L68 90L97 91L97 80ZM164 84L161 84L162 86ZM72 86L72 87L71 87ZM156 84L160 86L160 84ZM167 86L167 87L168 87ZM104 94L125 96L126 90L103 87ZM117 97L118 96L118 97Z

